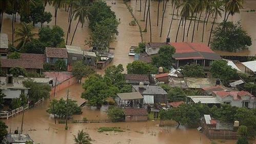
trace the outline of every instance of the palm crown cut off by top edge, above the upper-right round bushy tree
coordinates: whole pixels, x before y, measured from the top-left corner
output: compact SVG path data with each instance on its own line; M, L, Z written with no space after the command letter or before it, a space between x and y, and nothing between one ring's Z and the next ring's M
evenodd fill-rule
M225 22L228 20L229 14L234 15L234 13L240 13L240 8L243 8L243 0L229 0L225 4L225 10L228 12L228 15L225 19Z

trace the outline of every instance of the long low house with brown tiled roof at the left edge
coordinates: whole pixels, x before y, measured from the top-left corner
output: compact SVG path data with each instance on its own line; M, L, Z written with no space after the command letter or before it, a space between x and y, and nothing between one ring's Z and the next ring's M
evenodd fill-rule
M21 53L19 59L1 59L1 68L5 74L9 74L9 70L14 67L22 67L29 73L42 73L44 63L44 54Z

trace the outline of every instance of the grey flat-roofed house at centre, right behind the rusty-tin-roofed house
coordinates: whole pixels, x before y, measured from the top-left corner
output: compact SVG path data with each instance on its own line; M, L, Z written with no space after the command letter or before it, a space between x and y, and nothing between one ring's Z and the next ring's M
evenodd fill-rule
M155 104L167 104L167 92L160 86L144 86L143 83L140 83L139 86L132 86L133 92L140 92L143 96L153 95Z

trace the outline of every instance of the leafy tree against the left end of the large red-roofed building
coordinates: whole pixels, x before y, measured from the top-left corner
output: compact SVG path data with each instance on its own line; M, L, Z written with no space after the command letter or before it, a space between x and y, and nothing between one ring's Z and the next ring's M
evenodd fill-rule
M172 55L175 53L175 48L172 46L162 46L157 55L152 56L152 64L157 68L170 68L172 63Z

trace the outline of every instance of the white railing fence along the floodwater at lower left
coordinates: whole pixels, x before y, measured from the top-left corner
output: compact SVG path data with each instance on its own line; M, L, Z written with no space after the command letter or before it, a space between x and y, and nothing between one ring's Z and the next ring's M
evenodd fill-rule
M37 102L35 102L34 106L37 106L38 104L40 104L42 101L44 101L44 98L38 100ZM29 105L27 105L24 110L28 110L29 109ZM19 107L15 110L12 110L10 112L1 112L0 113L0 119L8 119L9 117L13 117L16 114L19 114L20 112L23 111L23 107Z

